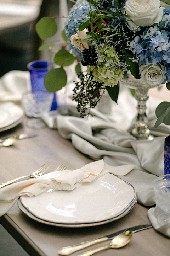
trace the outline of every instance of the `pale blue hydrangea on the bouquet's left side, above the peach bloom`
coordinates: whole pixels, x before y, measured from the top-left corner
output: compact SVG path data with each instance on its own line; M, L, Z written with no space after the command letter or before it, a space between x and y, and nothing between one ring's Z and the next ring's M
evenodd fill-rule
M77 33L80 25L89 19L89 16L87 15L89 11L90 6L86 0L77 2L65 20L65 33L67 36L67 43L69 48L73 50L73 54L75 54L80 60L83 58L83 55L77 47L73 47L70 37Z

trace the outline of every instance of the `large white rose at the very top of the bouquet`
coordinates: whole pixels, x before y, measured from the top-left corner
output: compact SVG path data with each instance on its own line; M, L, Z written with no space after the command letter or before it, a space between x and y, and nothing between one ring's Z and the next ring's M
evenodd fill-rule
M151 26L162 20L164 8L160 7L160 0L127 0L124 6L129 16L129 26Z

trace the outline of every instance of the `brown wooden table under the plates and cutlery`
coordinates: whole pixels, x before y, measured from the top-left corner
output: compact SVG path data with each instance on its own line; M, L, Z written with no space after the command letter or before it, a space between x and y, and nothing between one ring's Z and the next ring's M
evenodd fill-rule
M26 126L25 119L17 127L1 133L0 137L32 132L35 130ZM45 127L37 132L39 133L37 137L19 140L8 148L0 148L0 183L27 175L47 160L52 164L48 172L55 170L61 163L73 170L93 161L77 151L69 140L61 138L57 130ZM149 224L147 211L148 207L137 203L129 214L108 224L88 228L61 228L30 219L15 204L7 214L0 218L0 223L29 255L57 256L58 249L63 246L95 239L130 226ZM102 245L104 244L108 242ZM169 244L169 238L151 228L135 233L130 243L121 249L114 251L109 249L96 255L168 256ZM98 246L92 246L90 249ZM86 250L75 252L72 255L79 255Z

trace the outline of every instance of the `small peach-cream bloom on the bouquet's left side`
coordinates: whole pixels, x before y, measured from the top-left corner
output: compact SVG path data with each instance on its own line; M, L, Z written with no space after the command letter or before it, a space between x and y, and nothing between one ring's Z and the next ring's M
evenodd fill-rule
M71 44L74 46L74 47L77 47L81 52L83 52L84 49L89 49L89 45L91 44L91 41L84 41L82 43L77 43L83 39L86 39L86 38L89 38L90 36L87 36L87 32L88 29L85 28L84 30L82 31L79 31L77 32L77 34L74 34L73 36L71 36Z

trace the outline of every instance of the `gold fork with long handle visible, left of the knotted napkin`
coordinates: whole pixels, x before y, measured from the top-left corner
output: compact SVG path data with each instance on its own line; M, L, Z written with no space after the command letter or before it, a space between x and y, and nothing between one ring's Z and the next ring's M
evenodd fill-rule
M0 188L4 187L4 186L6 186L6 185L9 185L9 184L11 184L11 183L13 183L13 182L15 182L15 181L21 180L21 179L23 179L23 178L28 178L28 177L31 177L31 178L38 178L38 177L40 177L41 175L43 175L43 174L49 169L50 166L51 166L51 164L47 161L47 162L45 162L45 164L42 165L38 170L36 170L35 172L33 172L33 173L30 174L30 175L24 175L24 176L22 176L22 177L19 177L19 178L14 179L14 180L7 181L7 182L5 182L5 183L1 183L1 184L0 184Z

